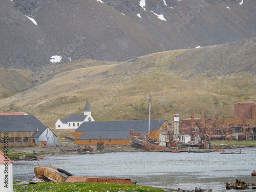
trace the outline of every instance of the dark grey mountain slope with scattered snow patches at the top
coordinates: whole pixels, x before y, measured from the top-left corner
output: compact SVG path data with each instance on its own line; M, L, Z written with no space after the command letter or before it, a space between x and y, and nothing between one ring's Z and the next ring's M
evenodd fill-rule
M0 68L54 70L256 36L249 0L3 0Z

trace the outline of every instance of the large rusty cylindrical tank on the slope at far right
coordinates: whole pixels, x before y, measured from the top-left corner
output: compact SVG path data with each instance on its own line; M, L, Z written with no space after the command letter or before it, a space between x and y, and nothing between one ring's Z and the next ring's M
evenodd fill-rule
M245 119L256 118L256 102L242 101L234 104L234 117L242 117Z

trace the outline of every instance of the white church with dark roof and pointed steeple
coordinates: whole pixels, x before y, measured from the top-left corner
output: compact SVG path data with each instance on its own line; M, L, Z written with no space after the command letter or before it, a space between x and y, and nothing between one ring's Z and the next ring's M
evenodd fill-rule
M55 123L55 129L77 129L84 121L94 121L88 99L83 114L69 114L66 119L58 119Z

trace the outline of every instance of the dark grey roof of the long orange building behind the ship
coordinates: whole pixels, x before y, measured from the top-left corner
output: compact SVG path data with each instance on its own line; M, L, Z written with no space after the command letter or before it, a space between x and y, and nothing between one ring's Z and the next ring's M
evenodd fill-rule
M157 130L166 120L151 120L151 130ZM84 131L77 139L126 139L129 130L146 134L148 120L83 122L75 131Z

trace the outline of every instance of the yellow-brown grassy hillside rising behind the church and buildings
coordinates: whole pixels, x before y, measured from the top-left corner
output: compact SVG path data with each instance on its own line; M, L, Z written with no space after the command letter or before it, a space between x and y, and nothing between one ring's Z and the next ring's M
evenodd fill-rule
M233 103L256 100L255 38L231 44L166 51L125 62L79 60L28 91L0 100L0 112L24 111L53 127L82 113L89 99L95 120L233 116Z

